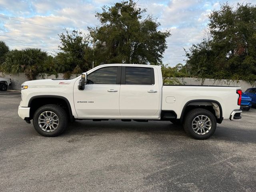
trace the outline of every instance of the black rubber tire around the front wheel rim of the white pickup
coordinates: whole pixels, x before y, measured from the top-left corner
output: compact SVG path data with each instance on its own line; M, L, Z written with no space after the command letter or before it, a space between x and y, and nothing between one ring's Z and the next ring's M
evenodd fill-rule
M56 116L58 118L58 120L55 120L58 123L58 126L56 127L55 130L53 130L51 132L49 130L50 124L48 124L49 129L46 128L46 130L43 130L40 127L40 125L38 124L39 116L44 114L44 112L52 112L52 113L56 114ZM54 118L52 118L52 119L54 119ZM44 122L42 122L42 123L44 123ZM40 108L38 108L38 110L36 110L36 112L34 113L34 116L33 116L33 125L34 125L35 130L40 135L46 136L46 137L55 137L55 136L62 134L62 132L64 132L64 130L66 130L66 128L68 127L68 116L67 116L66 111L62 107L55 105L55 104L47 104L47 105L41 106ZM49 132L47 132L47 130ZM52 128L51 128L51 130L52 130Z

